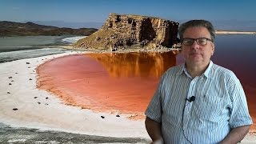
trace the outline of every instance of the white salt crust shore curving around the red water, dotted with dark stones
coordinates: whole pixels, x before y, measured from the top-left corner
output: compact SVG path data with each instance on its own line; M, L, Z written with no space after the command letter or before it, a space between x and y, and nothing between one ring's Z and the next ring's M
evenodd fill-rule
M37 66L52 58L78 53L81 52L67 52L0 63L0 122L14 127L39 130L150 139L143 120L134 121L127 119L124 115L118 118L115 114L66 106L54 94L36 88ZM14 108L18 110L13 110ZM242 143L256 143L255 131L247 134Z

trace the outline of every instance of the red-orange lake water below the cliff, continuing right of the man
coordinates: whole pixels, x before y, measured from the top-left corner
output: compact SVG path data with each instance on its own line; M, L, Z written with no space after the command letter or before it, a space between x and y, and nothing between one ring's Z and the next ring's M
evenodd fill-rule
M57 94L64 103L143 118L158 79L182 60L168 53L75 54L38 67L38 88ZM256 88L242 82L254 118Z

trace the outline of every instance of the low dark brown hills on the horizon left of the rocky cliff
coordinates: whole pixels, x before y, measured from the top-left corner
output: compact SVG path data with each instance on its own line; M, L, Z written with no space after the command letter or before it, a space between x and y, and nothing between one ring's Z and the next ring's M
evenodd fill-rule
M0 21L0 37L7 36L28 36L28 35L90 35L97 29L94 28L80 28L72 29L57 26L38 25L34 22L7 22Z

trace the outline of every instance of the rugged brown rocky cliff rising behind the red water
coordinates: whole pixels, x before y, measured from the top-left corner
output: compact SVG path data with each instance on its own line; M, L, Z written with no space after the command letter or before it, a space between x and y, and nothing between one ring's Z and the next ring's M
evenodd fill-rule
M171 47L178 34L178 22L138 15L110 14L104 26L80 39L74 47L120 50Z

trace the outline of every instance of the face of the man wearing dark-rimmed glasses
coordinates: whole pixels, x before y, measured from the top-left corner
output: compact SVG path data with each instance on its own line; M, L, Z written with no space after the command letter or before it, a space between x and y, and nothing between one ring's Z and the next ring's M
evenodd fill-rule
M205 27L190 27L185 30L184 38L210 38L210 33ZM200 41L200 40L198 40ZM214 43L206 40L207 44L201 46L202 42L194 41L190 46L182 43L182 55L186 63L207 65L210 62L210 57L214 54ZM199 44L199 45L198 45Z

